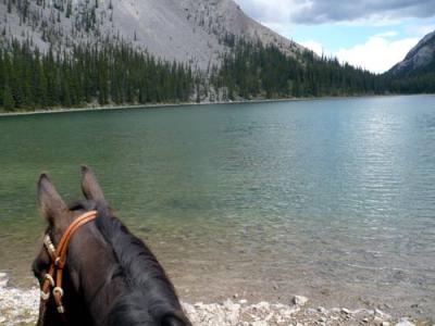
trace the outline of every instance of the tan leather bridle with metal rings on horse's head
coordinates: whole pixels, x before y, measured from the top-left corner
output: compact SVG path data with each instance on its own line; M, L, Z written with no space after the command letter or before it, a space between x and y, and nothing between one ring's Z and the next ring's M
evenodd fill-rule
M44 238L44 244L47 249L48 254L50 255L51 264L50 268L44 277L44 281L41 285L41 312L45 312L47 309L47 303L50 299L50 289L52 288L52 294L58 312L61 315L65 313L65 308L62 304L62 272L66 262L66 251L70 244L70 240L80 226L94 221L95 218L97 218L97 211L90 211L78 216L63 234L58 244L58 248L54 248L54 244L51 241L49 235L46 235L46 237Z

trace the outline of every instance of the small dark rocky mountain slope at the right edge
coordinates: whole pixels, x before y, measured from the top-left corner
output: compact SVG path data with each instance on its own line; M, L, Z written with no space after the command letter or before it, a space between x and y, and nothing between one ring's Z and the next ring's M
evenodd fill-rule
M396 76L435 73L435 30L423 37L408 52L405 60L396 64L388 73Z

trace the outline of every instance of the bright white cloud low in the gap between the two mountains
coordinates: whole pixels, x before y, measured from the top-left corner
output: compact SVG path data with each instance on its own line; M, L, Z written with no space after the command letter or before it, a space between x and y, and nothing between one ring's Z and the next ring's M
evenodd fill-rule
M341 62L348 62L374 73L383 73L403 60L418 41L419 38L391 40L388 37L375 35L363 45L339 49L335 54Z

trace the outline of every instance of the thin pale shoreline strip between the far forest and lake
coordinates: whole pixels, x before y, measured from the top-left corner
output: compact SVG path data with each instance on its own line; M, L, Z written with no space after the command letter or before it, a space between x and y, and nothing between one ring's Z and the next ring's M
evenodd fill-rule
M59 114L91 111L117 111L117 110L139 110L139 109L164 109L164 108L185 108L185 106L206 106L222 104L256 104L256 103L278 103L278 102L300 102L300 101L320 101L320 100L347 100L347 99L366 99L366 98L391 98L391 97L419 97L435 96L431 93L421 95L365 95L365 96L347 96L347 97L313 97L313 98L285 98L285 99L254 99L254 100L236 100L236 101L216 101L216 102L179 102L179 103L151 103L151 104L124 104L124 105L96 105L83 108L53 108L53 109L36 109L34 111L20 112L0 112L3 116L21 116L21 115L38 115L38 114Z

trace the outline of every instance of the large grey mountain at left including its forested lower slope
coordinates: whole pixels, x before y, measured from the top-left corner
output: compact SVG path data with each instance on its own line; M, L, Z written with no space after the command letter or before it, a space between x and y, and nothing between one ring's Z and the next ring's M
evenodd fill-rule
M389 83L233 0L0 0L0 111L382 95Z

